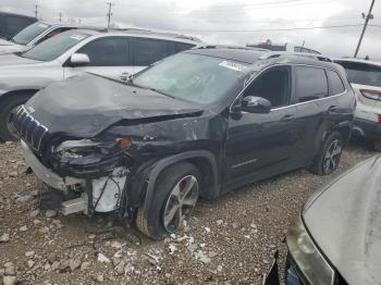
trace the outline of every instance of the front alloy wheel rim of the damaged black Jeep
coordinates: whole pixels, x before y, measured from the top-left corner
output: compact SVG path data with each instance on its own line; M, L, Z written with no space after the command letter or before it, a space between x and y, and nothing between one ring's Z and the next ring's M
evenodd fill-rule
M193 175L184 176L172 188L163 212L163 224L168 232L173 233L190 216L198 195L198 182Z

